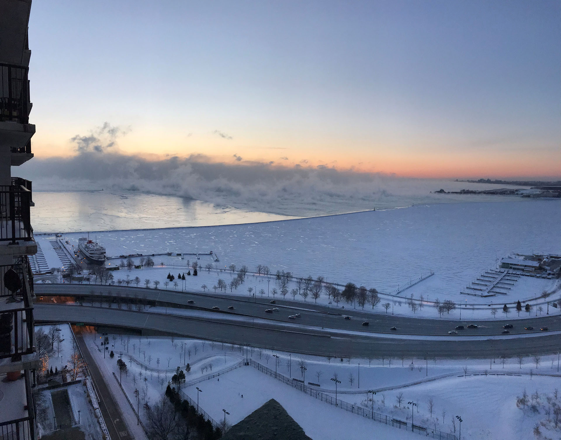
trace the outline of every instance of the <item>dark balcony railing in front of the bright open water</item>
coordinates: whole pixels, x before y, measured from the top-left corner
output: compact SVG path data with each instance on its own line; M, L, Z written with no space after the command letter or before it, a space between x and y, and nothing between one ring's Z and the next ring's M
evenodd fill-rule
M0 186L0 241L15 244L17 240L33 240L30 206L31 191L28 189L21 185Z

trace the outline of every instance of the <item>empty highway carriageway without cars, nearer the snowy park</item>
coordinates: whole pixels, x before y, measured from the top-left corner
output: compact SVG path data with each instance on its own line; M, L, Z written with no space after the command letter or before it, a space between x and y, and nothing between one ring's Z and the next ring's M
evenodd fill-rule
M333 335L328 331L306 328L287 329L274 321L254 324L219 319L210 321L107 307L44 303L35 304L34 315L37 322L84 322L87 325L132 328L142 334L165 332L229 344L334 357L489 358L554 353L561 349L561 339L557 334L498 340L458 337L444 340L389 339L344 333Z

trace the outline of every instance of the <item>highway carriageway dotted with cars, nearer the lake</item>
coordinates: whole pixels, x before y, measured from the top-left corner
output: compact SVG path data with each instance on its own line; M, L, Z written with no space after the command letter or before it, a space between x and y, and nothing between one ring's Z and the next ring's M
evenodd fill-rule
M302 303L292 300L275 299L276 304L270 304L272 298L251 298L238 295L221 294L199 294L183 293L169 290L145 289L126 286L101 286L87 284L35 284L35 294L54 296L76 296L80 295L83 302L88 302L93 294L94 297L112 297L113 300L121 298L145 298L158 302L162 307L192 308L213 312L213 307L220 310L215 311L217 319L223 313L241 314L243 316L269 319L275 321L299 323L306 326L334 328L340 330L354 330L374 333L391 333L399 335L448 335L448 331L454 330L458 325L465 326L464 330L458 330L456 337L461 339L465 336L500 335L503 325L511 323L513 328L509 329L511 334L527 334L540 332L540 327L548 327L550 331L561 330L561 318L559 316L541 316L537 318L513 319L512 321L466 321L459 319L423 319L412 317L397 317L392 314L373 314L361 312L358 309L333 309L324 305L313 303ZM43 301L48 300L44 298ZM99 304L99 299L96 299ZM188 301L192 300L193 304ZM95 302L94 302L95 303ZM228 307L232 306L233 310ZM273 313L265 313L266 309L278 308ZM289 319L288 316L300 313L301 317ZM337 313L337 314L333 314ZM344 313L339 315L338 313ZM454 312L457 313L457 312ZM523 312L522 312L523 313ZM467 313L469 316L469 313ZM350 316L351 319L344 319ZM368 326L362 323L368 321ZM467 328L470 323L475 323L478 328ZM525 327L534 327L533 331L525 330ZM391 327L397 327L397 331L390 331Z

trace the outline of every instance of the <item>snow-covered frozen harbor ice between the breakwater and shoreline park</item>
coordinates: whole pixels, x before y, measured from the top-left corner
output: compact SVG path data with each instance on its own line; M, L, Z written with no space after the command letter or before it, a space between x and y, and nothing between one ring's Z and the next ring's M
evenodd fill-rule
M433 270L434 276L402 295L423 295L430 301L439 298L457 303L503 304L534 298L543 290L555 290L555 281L522 277L508 295L487 299L461 295L460 291L483 271L495 268L500 258L508 254L559 253L560 214L561 203L555 200L458 203L259 224L109 231L97 233L96 238L107 248L108 256L173 253L154 256L156 267L151 269L114 272L115 281L124 280L127 275L130 279L139 276L140 286L149 279L160 281L159 288L164 288L169 272L174 276L186 272L188 257L182 260L176 253L213 251L219 262L213 262L210 256L201 256L197 262L203 267L212 263L215 269L210 274L199 270L199 276L187 277L185 288L203 290L204 284L211 289L218 278L229 282L231 264L247 265L250 271L262 264L272 273L285 270L299 277L324 276L330 282L352 281L390 294ZM76 245L81 236L66 234L63 239ZM47 248L54 237L36 238ZM52 253L48 254L52 257ZM49 266L61 266L58 259L49 256L45 252ZM108 262L114 265L119 260ZM160 263L164 266L158 267ZM274 280L268 282L265 276L250 275L236 291L247 294L250 287L270 295L276 286ZM174 289L173 283L168 289ZM176 289L181 289L181 282ZM328 302L325 294L320 302ZM407 309L404 304L403 309Z

